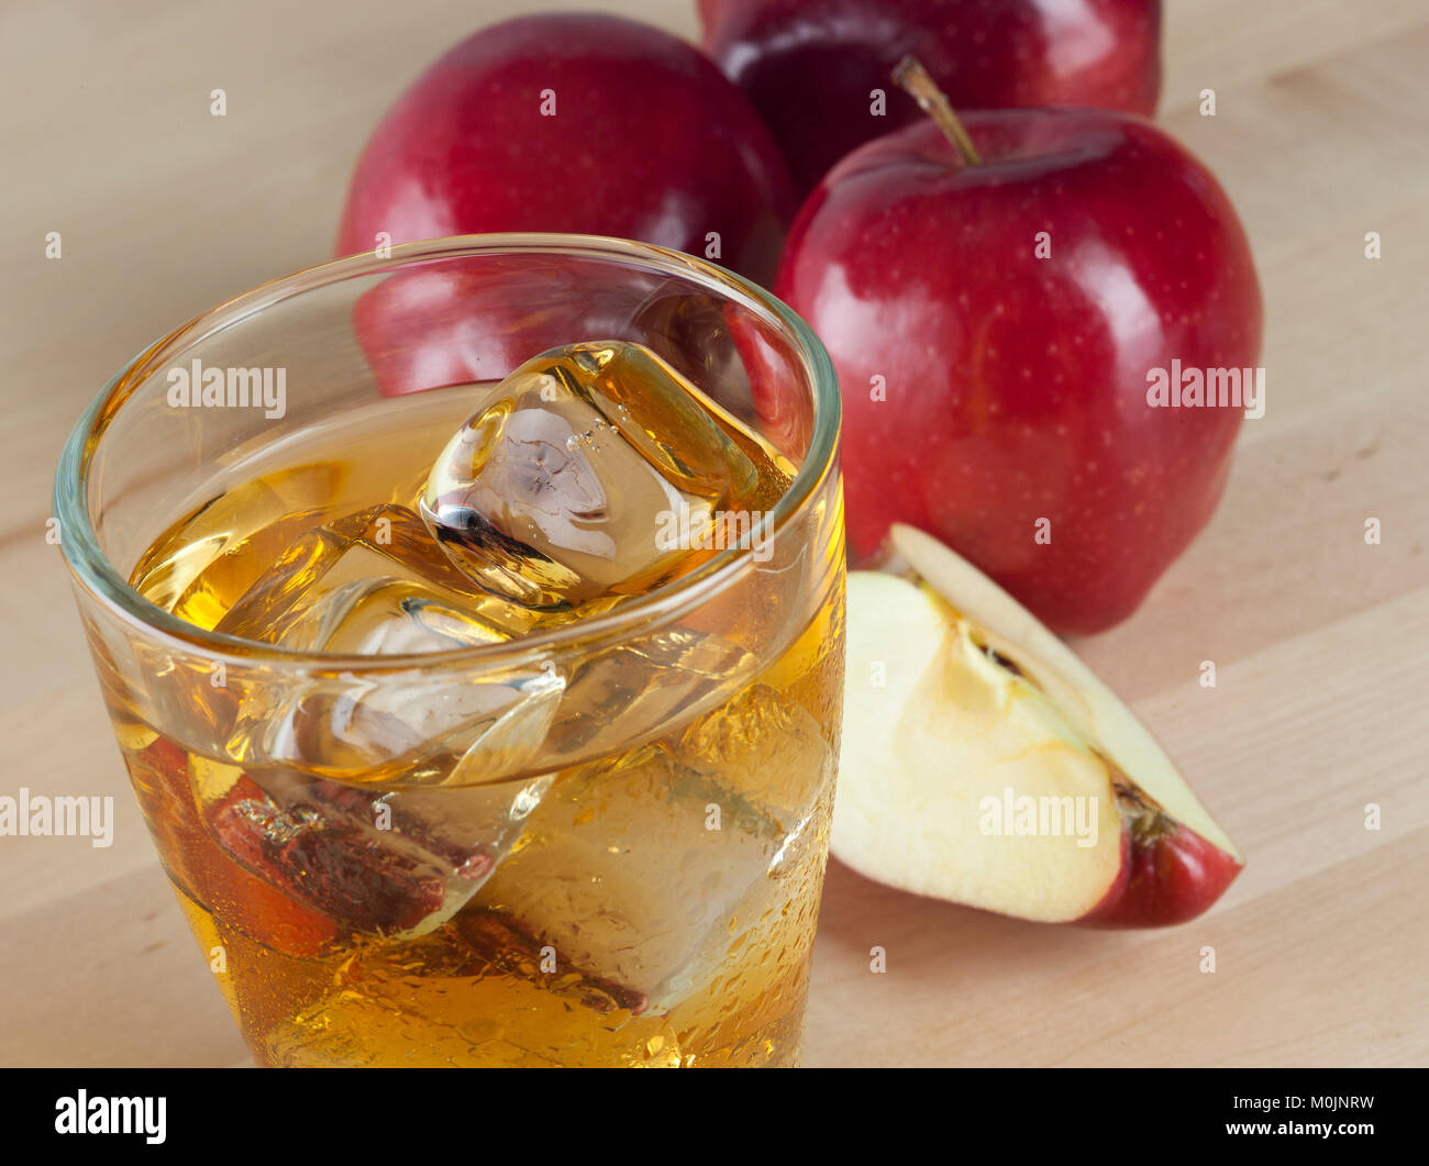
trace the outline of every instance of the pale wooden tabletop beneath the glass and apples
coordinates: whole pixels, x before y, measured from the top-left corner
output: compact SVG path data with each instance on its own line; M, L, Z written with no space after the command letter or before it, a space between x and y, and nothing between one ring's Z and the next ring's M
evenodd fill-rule
M129 794L44 537L63 437L150 339L323 260L380 110L449 43L517 7L0 13L0 793L117 794L110 849L0 839L0 1063L246 1059ZM596 7L696 31L689 0ZM1220 176L1255 244L1269 409L1245 426L1209 530L1130 622L1079 647L1249 866L1195 923L1102 933L915 899L832 864L812 1065L1429 1059L1429 4L1172 0L1167 24L1162 121ZM214 87L224 119L209 113ZM1208 87L1216 117L1196 110ZM1379 260L1363 254L1370 230ZM47 231L61 231L59 261ZM1218 687L1198 684L1202 660ZM886 975L869 972L873 945ZM1215 975L1199 970L1208 945Z

